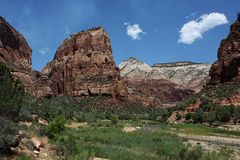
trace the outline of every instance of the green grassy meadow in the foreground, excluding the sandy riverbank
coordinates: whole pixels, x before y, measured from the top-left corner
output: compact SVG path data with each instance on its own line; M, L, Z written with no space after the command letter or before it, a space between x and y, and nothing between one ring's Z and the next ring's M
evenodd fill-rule
M126 133L122 131L124 126L140 126L143 129ZM144 130L145 127L148 130ZM177 133L239 135L239 132L200 125L139 121L120 121L113 125L110 121L101 121L86 127L68 128L56 135L52 143L61 147L64 156L70 160L90 157L111 160L227 160L232 153L227 148L221 152L205 152L200 146L184 144Z

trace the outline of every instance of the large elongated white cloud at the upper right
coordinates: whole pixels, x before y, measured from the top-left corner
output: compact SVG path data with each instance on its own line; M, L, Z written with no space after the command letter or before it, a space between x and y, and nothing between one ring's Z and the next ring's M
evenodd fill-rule
M228 23L227 17L222 13L204 14L182 26L178 43L192 44L196 39L202 38L208 30L226 23Z

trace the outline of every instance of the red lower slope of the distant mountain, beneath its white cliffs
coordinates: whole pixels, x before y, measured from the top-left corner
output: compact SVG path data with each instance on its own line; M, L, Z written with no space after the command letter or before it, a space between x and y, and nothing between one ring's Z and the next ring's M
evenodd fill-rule
M172 107L194 93L194 91L181 88L166 79L126 78L126 85L128 99L140 101L148 107Z

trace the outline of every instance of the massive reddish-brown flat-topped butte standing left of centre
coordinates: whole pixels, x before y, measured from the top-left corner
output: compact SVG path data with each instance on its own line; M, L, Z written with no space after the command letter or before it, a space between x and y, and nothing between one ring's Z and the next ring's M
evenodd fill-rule
M125 95L110 40L102 27L66 39L42 74L49 78L54 95L82 97L102 94L114 99Z

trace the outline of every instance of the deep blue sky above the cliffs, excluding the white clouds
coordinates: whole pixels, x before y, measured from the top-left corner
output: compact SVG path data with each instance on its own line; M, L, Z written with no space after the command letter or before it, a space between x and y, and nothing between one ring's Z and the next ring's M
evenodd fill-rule
M148 64L212 63L238 11L239 0L0 0L0 15L28 41L36 70L52 60L69 34L94 26L108 32L116 64L129 57ZM198 25L211 13L223 14L228 23L203 29L191 44L178 42L184 24ZM127 34L133 25L140 29L137 39Z

